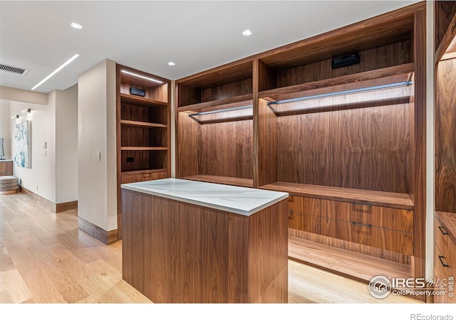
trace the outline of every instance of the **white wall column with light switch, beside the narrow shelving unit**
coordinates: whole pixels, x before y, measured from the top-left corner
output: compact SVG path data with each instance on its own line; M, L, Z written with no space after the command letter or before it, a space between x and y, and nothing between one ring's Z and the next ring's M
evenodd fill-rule
M105 231L117 229L116 164L115 62L103 60L78 78L78 215Z

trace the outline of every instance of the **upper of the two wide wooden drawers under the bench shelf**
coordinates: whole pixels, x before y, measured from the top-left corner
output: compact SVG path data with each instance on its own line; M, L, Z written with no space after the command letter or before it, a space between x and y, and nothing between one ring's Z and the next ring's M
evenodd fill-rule
M321 217L413 233L413 210L322 200Z

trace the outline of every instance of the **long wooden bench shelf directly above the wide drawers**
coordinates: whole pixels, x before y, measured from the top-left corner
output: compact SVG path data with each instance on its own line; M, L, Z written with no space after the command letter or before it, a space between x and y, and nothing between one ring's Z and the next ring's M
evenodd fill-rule
M414 208L412 199L406 193L316 186L311 184L289 182L275 182L266 186L261 186L261 188L266 190L288 192L296 196L356 202L371 206L383 206L405 210L413 210Z

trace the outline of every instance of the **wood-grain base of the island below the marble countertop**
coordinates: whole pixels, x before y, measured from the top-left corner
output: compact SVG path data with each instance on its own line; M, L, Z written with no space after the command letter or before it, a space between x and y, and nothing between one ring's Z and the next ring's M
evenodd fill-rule
M160 303L286 302L286 200L251 216L123 190L123 279Z

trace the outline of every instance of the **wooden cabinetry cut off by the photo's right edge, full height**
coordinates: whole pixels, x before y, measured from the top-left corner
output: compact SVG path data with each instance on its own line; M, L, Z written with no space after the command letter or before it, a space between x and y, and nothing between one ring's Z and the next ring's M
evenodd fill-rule
M456 1L435 1L435 75L434 302L455 303Z

